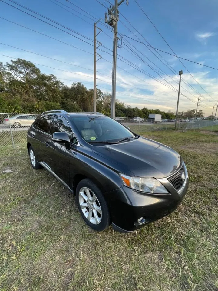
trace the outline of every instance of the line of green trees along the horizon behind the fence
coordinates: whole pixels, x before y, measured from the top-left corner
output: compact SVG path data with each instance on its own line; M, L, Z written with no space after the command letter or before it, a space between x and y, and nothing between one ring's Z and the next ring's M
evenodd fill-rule
M32 62L24 59L0 62L0 112L41 113L47 110L64 109L68 112L93 111L93 89L81 82L67 86L53 74L43 74ZM111 113L111 94L97 89L97 112L107 116ZM116 116L148 118L149 113L161 114L163 119L172 119L175 112L159 109L131 107L116 100ZM179 112L179 117L194 117L195 111ZM190 115L190 116L188 116ZM199 110L198 117L203 112Z

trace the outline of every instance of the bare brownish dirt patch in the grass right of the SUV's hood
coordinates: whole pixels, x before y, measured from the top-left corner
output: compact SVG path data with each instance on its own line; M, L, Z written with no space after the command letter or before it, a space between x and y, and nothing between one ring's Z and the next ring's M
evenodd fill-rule
M188 146L180 146L180 149L186 149L190 152L215 154L218 153L218 143L198 142L196 144L189 144Z

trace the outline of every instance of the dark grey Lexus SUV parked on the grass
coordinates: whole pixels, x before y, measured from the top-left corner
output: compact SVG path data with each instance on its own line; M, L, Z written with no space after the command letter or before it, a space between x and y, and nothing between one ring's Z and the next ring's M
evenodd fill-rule
M33 169L44 167L76 195L98 231L131 232L173 212L188 188L180 155L101 113L43 112L27 133Z

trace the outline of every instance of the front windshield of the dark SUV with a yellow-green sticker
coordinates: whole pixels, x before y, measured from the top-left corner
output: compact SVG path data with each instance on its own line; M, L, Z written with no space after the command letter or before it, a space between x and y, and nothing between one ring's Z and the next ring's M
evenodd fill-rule
M117 142L137 136L107 116L71 116L71 120L86 142Z

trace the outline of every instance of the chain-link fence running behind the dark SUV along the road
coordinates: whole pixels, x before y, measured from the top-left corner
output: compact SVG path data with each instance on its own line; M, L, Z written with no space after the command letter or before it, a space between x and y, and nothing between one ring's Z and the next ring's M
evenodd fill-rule
M0 113L0 149L25 146L27 130L39 114ZM117 122L136 133L175 129L175 119L145 119L140 117L114 117ZM186 118L177 120L177 129L218 130L218 120Z

